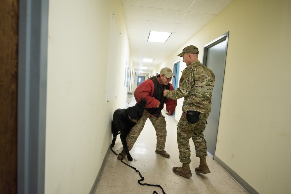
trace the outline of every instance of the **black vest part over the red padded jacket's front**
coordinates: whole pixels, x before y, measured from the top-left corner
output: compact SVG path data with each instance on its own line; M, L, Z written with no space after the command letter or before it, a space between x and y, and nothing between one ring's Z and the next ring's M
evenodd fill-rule
M163 85L161 83L158 82L156 76L152 76L149 78L150 80L152 80L152 82L154 83L154 93L152 94L152 97L154 97L155 99L159 100L161 102L159 108L155 107L155 108L145 108L145 110L147 110L150 114L155 115L157 114L157 118L159 118L160 113L163 109L163 105L166 103L167 101L167 97L163 96L164 93L164 89L166 90L170 90L170 83L168 85Z

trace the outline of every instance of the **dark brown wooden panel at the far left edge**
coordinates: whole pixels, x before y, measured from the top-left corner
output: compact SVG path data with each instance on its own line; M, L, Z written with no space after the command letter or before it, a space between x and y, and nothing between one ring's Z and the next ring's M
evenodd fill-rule
M0 6L0 193L17 192L18 1Z

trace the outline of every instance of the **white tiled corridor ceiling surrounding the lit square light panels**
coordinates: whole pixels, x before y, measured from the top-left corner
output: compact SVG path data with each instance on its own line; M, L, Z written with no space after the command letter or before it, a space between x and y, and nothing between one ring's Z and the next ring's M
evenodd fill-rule
M141 71L150 73L232 1L122 0L135 72L148 67ZM148 42L150 31L172 34L165 43ZM153 61L143 62L143 58Z

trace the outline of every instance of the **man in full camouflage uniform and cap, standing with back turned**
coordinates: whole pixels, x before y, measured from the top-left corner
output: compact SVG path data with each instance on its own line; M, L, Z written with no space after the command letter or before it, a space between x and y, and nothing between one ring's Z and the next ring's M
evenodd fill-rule
M182 72L179 88L174 91L164 90L164 96L170 99L184 97L182 116L178 122L177 141L179 158L182 167L173 167L177 175L189 178L192 176L189 167L190 147L192 138L196 156L200 158L200 165L195 168L196 173L210 173L206 163L207 146L203 131L211 111L211 96L214 86L214 73L198 60L198 48L190 45L185 47L178 56L183 57L186 68Z

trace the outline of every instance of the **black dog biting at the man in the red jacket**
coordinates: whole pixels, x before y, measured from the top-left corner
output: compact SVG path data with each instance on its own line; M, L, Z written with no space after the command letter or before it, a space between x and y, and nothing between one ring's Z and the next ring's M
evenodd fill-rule
M111 147L115 145L116 136L118 134L118 131L120 131L120 139L128 161L132 161L132 157L129 154L126 143L126 136L131 128L136 124L136 122L143 116L144 108L145 99L142 99L139 103L136 103L135 106L129 107L127 109L119 108L113 113L113 120L111 124L113 140L111 143Z

